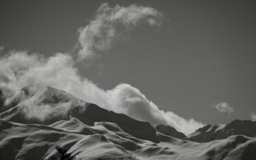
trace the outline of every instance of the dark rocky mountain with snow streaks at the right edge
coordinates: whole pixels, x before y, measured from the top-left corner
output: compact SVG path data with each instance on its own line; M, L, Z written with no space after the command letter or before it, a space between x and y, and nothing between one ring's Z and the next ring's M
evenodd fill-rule
M206 125L184 138L195 142L223 140L231 135L246 135L256 138L256 122L234 120L227 125Z

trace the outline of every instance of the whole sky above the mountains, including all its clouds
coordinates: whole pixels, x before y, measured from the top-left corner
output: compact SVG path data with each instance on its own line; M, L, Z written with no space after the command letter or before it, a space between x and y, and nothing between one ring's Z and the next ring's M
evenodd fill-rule
M205 124L255 120L255 6L255 1L1 1L0 81L7 83L3 66L14 59L34 71L18 70L26 78L57 61L76 79L59 76L54 83L49 76L49 85L153 124L190 133ZM81 83L82 93L61 80ZM187 125L193 127L185 131Z

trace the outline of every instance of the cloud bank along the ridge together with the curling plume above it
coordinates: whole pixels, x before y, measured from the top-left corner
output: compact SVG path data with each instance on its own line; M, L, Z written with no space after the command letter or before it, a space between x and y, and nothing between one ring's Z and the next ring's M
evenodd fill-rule
M159 16L162 14L151 7L117 5L111 8L103 4L94 20L80 29L79 59L90 57L96 52L95 49L111 48L115 39L119 37L115 24L135 27L141 22L147 22L149 25L156 25ZM158 106L130 84L118 84L114 89L107 91L100 89L94 82L79 74L79 70L74 67L75 63L71 54L56 53L52 57L44 57L43 54L12 50L0 60L0 86L21 89L33 83L46 84L85 101L96 103L107 110L148 121L152 125L171 125L185 134L203 126L193 118L185 119L173 112L159 110ZM35 114L36 109L27 112L31 116Z

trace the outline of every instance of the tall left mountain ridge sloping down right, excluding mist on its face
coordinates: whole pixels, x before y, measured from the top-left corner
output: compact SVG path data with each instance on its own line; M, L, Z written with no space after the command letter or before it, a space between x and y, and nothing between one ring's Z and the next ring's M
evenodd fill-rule
M25 89L26 91L27 89ZM29 92L25 93L25 95L30 95ZM53 98L50 99L49 97ZM72 98L71 100L68 98ZM52 116L51 118L46 118L44 121L38 120L38 118L26 118L25 113L23 112L24 108L27 108L26 101L30 101L33 99L35 101L35 107L37 107L38 103L40 105L44 105L45 103L51 103L51 106L55 108L55 106L59 103L70 103L70 108L63 114ZM28 105L31 105L30 103ZM29 108L30 109L30 108ZM156 139L156 131L150 123L137 121L125 114L117 114L113 111L105 110L104 108L100 108L94 103L86 103L81 99L77 99L73 95L66 93L64 91L60 91L54 89L52 87L43 88L38 92L32 93L31 97L23 100L21 103L18 103L17 106L10 108L9 110L5 110L5 112L0 113L0 118L5 121L12 121L16 123L38 123L43 125L51 125L55 123L55 121L60 120L68 120L71 116L79 118L80 121L87 125L94 125L95 122L110 122L116 123L124 129L127 133L134 135L134 137L150 140L152 142L158 142Z

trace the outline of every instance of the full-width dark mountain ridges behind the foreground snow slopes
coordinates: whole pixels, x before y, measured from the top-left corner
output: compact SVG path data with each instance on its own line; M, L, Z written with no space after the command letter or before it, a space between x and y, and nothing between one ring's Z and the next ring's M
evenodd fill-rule
M9 101L7 106L4 105L4 100L6 100L6 95L4 94L7 94L7 97L11 95L11 98L8 98L12 99L12 101ZM68 103L70 108L68 108L67 110L65 110L65 112L59 115L52 116L51 118L45 118L43 120L40 120L36 117L25 118L25 113L23 109L26 108L26 105L31 105L31 103L27 104L27 101L33 101L33 105L38 103L40 103L40 105L51 105L51 107L53 108L55 108L57 105ZM55 89L51 86L45 86L44 84L31 84L29 86L24 87L23 89L16 91L0 89L0 102L1 109L5 106L5 110L1 110L0 112L0 118L6 121L14 121L19 123L39 123L51 125L55 121L68 120L70 116L81 117L80 114L82 112L84 114L83 123L87 123L89 125L94 125L94 122L96 121L109 121L111 123L119 123L119 125L121 125L120 123L122 121L117 121L115 120L115 118L112 117L118 115L122 118L130 119L129 121L133 120L133 118L130 118L125 114L116 114L113 111L105 110L94 103L87 103L81 99L76 98L74 95L71 95L70 93L66 93L65 91ZM87 110L87 112L84 112L85 110ZM96 116L97 114L98 116ZM149 133L151 133L151 135L148 136L148 138L149 140L152 140L154 142L157 142L155 138L153 138L156 137L156 133L154 133L156 131L164 135L171 136L173 138L180 138L195 142L210 142L212 140L223 140L229 137L230 135L246 135L249 137L256 137L256 122L246 120L234 120L227 125L205 125L188 136L184 135L184 133L177 131L174 127L171 127L169 125L156 125L155 127L153 127L153 129L150 129L152 126L149 123L143 122L143 124L147 124ZM246 127L247 129L243 128L245 127L244 124L248 125L248 127ZM122 123L121 126L124 128L125 125L125 123ZM240 127L240 129L236 129L238 127ZM156 131L154 131L154 129ZM228 133L226 133L226 130L228 131ZM139 135L139 137L141 138L142 135Z

